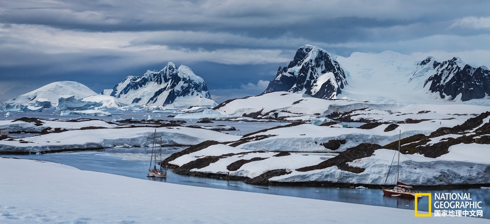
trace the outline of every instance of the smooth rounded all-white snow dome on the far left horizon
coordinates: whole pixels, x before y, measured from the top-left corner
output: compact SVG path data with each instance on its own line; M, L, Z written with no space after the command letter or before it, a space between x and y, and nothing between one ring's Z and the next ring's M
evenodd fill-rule
M61 81L50 83L37 90L32 90L28 93L9 99L6 102L34 104L36 103L36 100L44 98L49 99L51 104L57 104L60 95L74 95L76 98L85 98L87 96L97 95L97 93L83 84L72 81Z

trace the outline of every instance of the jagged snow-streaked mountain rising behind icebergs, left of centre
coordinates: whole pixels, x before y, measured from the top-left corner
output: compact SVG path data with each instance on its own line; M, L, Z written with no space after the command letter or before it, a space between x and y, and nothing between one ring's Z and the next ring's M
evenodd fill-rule
M217 103L211 99L204 80L191 68L168 62L159 72L147 71L143 76L128 76L112 90L101 94L119 98L127 104L170 107L207 106Z

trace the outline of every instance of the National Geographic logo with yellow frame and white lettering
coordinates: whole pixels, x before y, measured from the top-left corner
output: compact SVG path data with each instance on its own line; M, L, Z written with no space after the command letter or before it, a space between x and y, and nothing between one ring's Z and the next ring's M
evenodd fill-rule
M429 198L429 213L419 214L419 196ZM470 193L434 193L434 217L483 217L483 203L471 198ZM415 216L432 216L432 193L415 193Z

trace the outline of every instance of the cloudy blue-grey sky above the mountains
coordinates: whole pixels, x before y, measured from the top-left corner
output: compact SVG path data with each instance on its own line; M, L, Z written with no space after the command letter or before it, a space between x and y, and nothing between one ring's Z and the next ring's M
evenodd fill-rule
M96 92L189 66L217 102L260 94L298 47L490 67L487 0L1 0L0 101L56 81Z

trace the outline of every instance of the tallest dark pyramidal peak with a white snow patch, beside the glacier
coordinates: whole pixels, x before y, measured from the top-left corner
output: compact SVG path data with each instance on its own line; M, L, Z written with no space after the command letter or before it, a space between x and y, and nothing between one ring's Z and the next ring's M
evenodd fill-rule
M279 67L264 93L289 91L331 99L347 85L345 72L330 54L318 46L299 47L288 67Z

